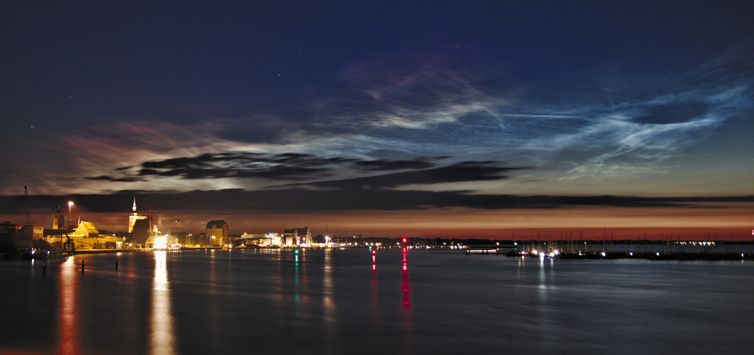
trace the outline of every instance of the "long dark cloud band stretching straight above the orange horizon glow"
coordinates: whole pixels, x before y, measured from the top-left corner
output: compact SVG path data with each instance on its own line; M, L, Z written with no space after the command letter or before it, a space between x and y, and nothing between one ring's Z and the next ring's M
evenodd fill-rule
M29 197L33 210L55 210L69 198L76 207L89 212L130 213L133 197L152 204L155 210L306 212L351 210L425 210L430 208L468 207L485 210L553 209L575 206L605 207L686 207L701 203L754 202L754 196L731 197L630 197L630 196L519 196L510 194L470 194L469 191L403 191L342 188L337 190L150 192L120 191L115 194L80 194L72 196L35 195ZM23 196L0 197L0 213L23 211Z

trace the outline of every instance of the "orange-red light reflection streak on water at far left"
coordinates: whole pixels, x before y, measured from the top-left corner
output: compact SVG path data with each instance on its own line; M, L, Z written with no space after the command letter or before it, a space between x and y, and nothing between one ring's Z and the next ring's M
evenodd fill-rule
M57 353L61 355L79 353L77 296L78 273L74 259L69 258L60 265L60 343Z

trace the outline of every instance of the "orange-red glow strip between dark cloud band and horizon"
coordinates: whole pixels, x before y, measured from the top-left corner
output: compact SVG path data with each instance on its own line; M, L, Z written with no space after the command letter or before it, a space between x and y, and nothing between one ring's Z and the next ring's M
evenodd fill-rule
M241 213L234 211L160 211L166 220L180 219L181 230L204 232L208 219L224 219L231 234L281 232L284 228L307 225L313 235L326 234L339 226L351 234L363 237L459 237L480 239L529 239L529 234L560 233L602 238L607 228L614 237L636 239L647 233L648 238L664 235L703 237L706 234L726 236L733 233L737 240L751 237L754 228L754 203L706 203L693 207L562 207L554 209L481 210L448 208L427 210L359 210L313 213ZM124 213L87 213L82 218L97 228L127 231L128 211ZM20 216L19 216L20 218ZM51 224L48 215L33 216L32 220ZM49 220L49 222L48 222ZM166 229L171 226L165 226Z

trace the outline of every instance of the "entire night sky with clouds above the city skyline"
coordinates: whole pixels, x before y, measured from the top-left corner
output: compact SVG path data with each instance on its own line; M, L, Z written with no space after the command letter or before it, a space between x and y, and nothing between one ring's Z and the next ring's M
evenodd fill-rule
M0 218L754 228L754 2L3 2ZM549 229L548 229L549 228Z

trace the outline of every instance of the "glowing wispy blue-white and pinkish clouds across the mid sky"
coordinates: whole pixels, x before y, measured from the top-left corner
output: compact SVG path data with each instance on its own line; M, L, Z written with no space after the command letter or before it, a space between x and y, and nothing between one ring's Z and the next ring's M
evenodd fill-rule
M741 61L728 62L731 58ZM555 180L585 184L579 182L585 177L609 181L672 173L665 161L750 112L754 98L750 66L721 60L677 78L642 79L627 87L612 83L609 90L589 88L547 102L536 96L541 90L521 84L491 89L485 84L489 78L446 57L397 61L400 66L394 59L371 60L344 69L342 90L319 94L290 116L114 124L56 137L49 144L58 157L71 159L73 169L38 179L48 193L259 189L274 185L259 179L292 179L293 172L216 166L222 162L212 169L144 164L204 155L306 154L322 162L372 161L374 167L380 161L399 167L395 162L403 161L406 168L429 167L426 157L449 157L444 164L492 159L505 167L538 168L540 173L526 171L526 181L535 180L532 186ZM380 170L325 168L333 180L376 176ZM513 179L516 172L509 175Z

